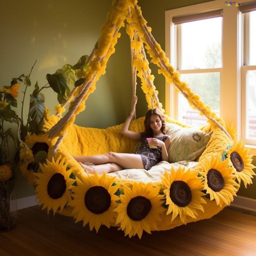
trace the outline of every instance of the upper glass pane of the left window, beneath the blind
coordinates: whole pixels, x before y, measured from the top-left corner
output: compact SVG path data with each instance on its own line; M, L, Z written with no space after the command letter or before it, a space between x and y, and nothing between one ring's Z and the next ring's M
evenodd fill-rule
M222 17L181 24L180 69L221 67Z

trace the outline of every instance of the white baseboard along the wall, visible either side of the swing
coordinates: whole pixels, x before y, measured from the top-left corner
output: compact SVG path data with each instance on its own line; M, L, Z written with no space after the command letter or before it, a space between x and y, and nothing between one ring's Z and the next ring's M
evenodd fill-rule
M17 204L17 206L16 206ZM24 208L32 207L38 205L37 199L35 195L31 195L30 197L19 198L16 200L11 200L10 202L10 210L13 211L15 209L21 210ZM250 211L256 211L256 199L251 199L248 197L234 197L234 201L231 203L231 206L238 207Z

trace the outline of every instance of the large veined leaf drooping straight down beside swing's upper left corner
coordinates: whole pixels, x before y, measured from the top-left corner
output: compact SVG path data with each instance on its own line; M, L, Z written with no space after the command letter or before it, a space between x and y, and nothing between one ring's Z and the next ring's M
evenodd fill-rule
M30 95L30 117L36 122L39 123L45 114L45 96L42 93L39 93L37 97Z

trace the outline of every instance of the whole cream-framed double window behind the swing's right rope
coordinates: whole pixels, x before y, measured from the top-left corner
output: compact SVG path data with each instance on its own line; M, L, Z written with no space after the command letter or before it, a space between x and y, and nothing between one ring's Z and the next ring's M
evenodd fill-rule
M181 80L236 128L256 155L256 11L246 13L242 5L249 4L239 2L227 6L215 0L166 11L165 50ZM191 125L205 123L168 83L166 113Z

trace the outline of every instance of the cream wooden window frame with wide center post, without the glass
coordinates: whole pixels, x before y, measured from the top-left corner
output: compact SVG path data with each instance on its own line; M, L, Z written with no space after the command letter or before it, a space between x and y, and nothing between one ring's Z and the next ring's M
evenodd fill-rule
M240 0L239 3L248 2ZM215 0L165 11L165 52L170 63L177 69L175 58L176 33L172 18L223 9L222 27L222 72L220 73L220 115L237 129L241 138L241 69L242 69L242 14L235 6L225 6L225 1ZM177 92L166 81L166 114L177 119ZM256 146L248 145L256 155Z

